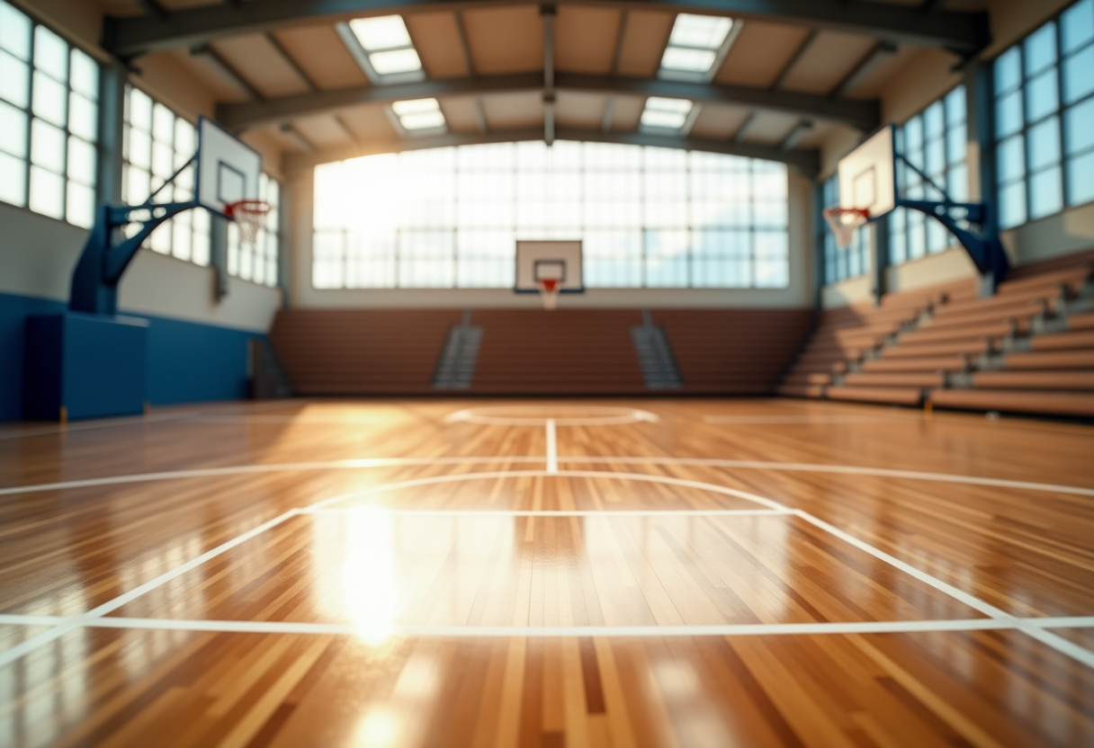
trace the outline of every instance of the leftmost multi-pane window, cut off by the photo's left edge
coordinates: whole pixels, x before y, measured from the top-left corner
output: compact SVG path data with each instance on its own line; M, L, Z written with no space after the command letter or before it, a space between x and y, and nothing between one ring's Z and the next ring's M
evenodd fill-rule
M0 0L0 200L95 221L98 65Z

